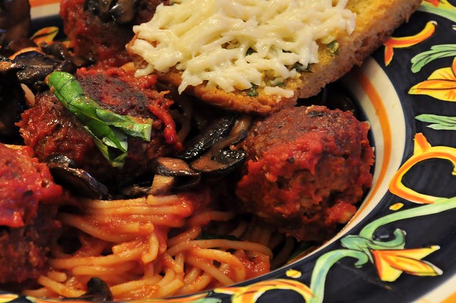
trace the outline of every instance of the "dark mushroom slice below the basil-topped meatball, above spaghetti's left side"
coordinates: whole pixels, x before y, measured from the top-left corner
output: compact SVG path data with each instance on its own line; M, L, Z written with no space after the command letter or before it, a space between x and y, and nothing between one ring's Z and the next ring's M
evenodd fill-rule
M67 156L53 156L47 164L56 184L68 188L74 195L93 199L108 198L108 188L87 171L76 168L74 161Z

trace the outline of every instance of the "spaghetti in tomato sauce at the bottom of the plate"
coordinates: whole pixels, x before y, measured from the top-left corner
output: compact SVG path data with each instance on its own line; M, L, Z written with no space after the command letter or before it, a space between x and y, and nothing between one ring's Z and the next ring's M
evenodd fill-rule
M115 300L170 297L263 275L284 243L277 255L289 257L292 240L209 205L207 190L78 201L76 211L58 217L63 231L51 245L47 274L38 277L42 287L25 293L81 297L98 277Z

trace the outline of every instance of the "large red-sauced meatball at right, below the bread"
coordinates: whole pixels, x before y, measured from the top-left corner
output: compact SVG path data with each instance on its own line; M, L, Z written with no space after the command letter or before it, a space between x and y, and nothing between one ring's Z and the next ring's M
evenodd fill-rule
M351 112L294 107L252 127L236 193L247 211L298 240L324 240L371 187L368 124Z

